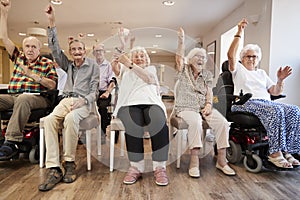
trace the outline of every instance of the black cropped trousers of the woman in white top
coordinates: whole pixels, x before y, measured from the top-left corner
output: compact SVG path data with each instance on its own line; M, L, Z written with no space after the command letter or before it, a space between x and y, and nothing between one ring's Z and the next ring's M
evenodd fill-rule
M150 133L153 161L167 161L169 129L164 111L157 105L134 105L121 107L118 118L126 130L126 147L130 161L144 159L144 130Z

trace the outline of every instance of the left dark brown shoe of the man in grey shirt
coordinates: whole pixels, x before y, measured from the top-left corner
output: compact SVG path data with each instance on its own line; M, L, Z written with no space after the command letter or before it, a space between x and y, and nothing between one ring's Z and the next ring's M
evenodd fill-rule
M54 188L54 186L59 183L63 178L61 170L56 168L50 168L47 174L46 181L39 185L40 191L48 191Z

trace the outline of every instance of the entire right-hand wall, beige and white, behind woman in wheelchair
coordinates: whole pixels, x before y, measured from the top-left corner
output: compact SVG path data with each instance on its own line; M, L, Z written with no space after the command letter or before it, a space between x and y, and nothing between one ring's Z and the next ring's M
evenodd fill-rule
M258 15L258 23L250 23L245 31L245 44L256 43L262 48L260 67L274 81L279 66L293 67L293 74L285 81L284 94L287 97L280 101L300 105L300 94L296 89L300 85L300 56L296 50L300 47L299 8L299 0L246 0L203 37L204 46L217 41L217 65L220 65L221 35L242 18L251 21L252 16Z

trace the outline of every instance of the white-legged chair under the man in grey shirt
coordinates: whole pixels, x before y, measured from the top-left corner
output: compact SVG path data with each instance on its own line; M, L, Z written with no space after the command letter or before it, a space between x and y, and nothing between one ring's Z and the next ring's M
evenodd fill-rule
M92 129L96 129L97 134L97 154L101 155L101 117L97 111L96 102L92 105L90 115L81 120L79 131L86 134L87 170L91 170L91 149L92 149ZM63 127L62 127L63 128ZM44 118L40 119L40 168L44 167L45 137Z

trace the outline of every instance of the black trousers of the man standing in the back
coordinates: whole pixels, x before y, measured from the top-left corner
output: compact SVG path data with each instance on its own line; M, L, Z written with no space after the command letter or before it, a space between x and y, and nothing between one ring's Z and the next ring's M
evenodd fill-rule
M105 91L100 90L99 91L99 96L103 94ZM111 95L107 99L103 98L98 98L97 100L97 106L98 106L98 111L101 115L101 130L103 134L106 134L106 127L110 124L111 120L111 115L107 113L107 106L111 105Z

